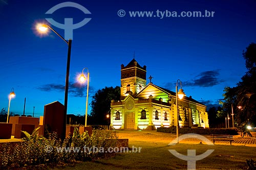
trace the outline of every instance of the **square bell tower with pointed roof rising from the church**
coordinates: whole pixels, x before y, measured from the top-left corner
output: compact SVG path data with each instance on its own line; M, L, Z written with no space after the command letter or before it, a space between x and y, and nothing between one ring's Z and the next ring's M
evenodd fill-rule
M146 86L146 66L141 67L133 59L127 66L121 65L121 99L128 94L135 96Z

